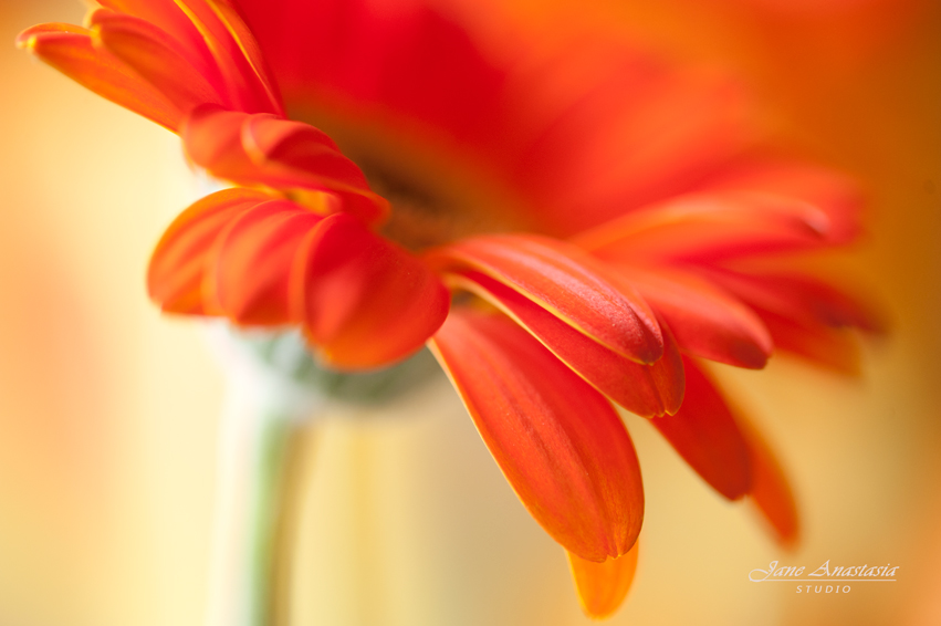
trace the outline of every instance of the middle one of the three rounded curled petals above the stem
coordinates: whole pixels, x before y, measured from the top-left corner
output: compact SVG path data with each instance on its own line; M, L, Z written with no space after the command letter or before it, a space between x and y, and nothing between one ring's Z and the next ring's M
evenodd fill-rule
M321 219L287 200L242 211L216 238L207 259L207 305L237 324L299 322L289 303L292 265L302 240Z

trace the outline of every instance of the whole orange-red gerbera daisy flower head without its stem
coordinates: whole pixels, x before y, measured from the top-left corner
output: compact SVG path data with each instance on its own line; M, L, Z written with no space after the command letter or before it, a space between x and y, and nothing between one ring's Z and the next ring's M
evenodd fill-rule
M755 263L850 241L858 204L756 147L734 85L441 2L100 4L19 41L239 186L158 243L165 311L300 326L339 369L427 343L590 615L625 597L644 518L611 403L796 538L774 457L700 359L760 368L777 347L851 369L846 327L877 324Z

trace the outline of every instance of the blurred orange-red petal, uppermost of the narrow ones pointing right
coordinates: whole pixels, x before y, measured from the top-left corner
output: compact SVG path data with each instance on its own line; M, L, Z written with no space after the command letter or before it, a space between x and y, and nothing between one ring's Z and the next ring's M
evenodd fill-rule
M608 260L714 261L822 246L828 216L808 202L757 192L689 195L625 215L575 238Z

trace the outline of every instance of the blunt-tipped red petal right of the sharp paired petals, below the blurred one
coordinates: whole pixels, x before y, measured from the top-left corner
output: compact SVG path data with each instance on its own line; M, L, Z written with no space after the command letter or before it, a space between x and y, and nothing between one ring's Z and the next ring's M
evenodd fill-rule
M693 356L760 369L774 343L751 309L693 273L618 265L618 272L662 316Z

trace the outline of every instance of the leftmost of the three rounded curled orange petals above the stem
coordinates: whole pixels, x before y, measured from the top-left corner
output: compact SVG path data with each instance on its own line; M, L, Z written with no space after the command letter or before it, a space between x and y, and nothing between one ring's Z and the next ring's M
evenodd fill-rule
M213 242L243 211L271 200L248 189L226 189L180 213L160 238L147 268L150 299L168 313L208 314L202 301L206 259Z

